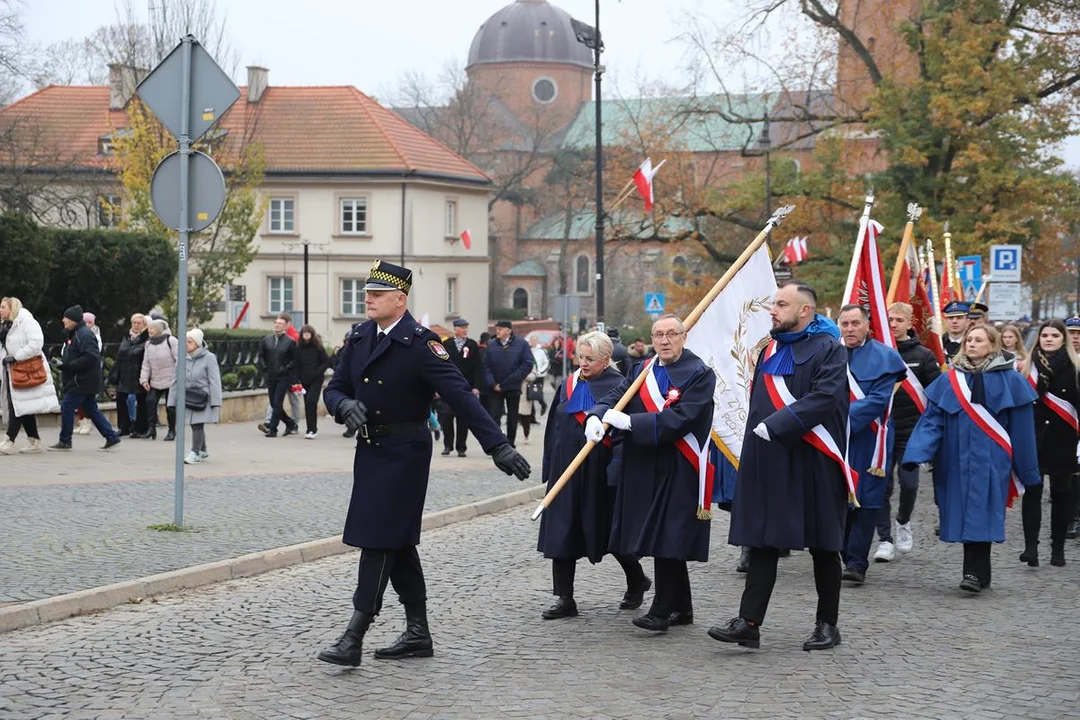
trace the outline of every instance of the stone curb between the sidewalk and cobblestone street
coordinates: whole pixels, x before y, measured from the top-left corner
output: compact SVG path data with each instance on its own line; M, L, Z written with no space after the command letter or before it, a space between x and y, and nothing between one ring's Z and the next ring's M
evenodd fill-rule
M524 505L543 498L546 486L537 485L488 498L465 505L448 507L423 516L421 528L434 530L456 522L463 522L482 515L490 515ZM312 540L297 545L274 547L259 553L241 555L228 560L197 565L180 570L129 580L112 585L92 587L67 595L44 598L0 608L0 633L43 625L76 615L109 610L145 598L167 595L177 590L201 587L227 580L249 578L271 570L311 562L332 555L341 555L353 548L341 542L341 535Z

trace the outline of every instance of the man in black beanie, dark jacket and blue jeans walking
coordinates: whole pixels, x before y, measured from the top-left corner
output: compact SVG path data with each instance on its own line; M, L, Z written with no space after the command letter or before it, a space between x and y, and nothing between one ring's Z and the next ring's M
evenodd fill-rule
M50 450L70 450L71 434L75 432L76 410L82 410L97 432L105 438L103 450L120 445L120 435L109 424L97 407L97 393L102 390L102 350L97 338L82 320L82 308L72 305L64 311L64 329L68 331L67 342L60 357L52 364L60 371L64 398L60 400L60 439ZM122 408L126 410L127 408Z

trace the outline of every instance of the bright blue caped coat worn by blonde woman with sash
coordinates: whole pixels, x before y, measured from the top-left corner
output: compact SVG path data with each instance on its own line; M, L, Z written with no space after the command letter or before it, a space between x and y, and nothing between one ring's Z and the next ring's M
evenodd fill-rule
M1005 502L1013 472L1025 486L1040 485L1035 449L1035 391L1012 364L983 372L984 406L1009 433L1013 457L990 438L960 406L949 381L953 369L927 388L927 411L919 418L904 463L934 462L941 539L947 543L1001 543ZM964 373L969 378L971 376Z

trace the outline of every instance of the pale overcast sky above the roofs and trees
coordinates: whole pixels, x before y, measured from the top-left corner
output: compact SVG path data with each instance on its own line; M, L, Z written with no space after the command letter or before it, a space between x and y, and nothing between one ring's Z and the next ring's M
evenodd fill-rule
M132 0L145 17L153 0ZM438 74L463 62L481 24L509 0L218 0L245 65L270 68L270 84L355 85L384 97L408 71ZM593 0L555 4L592 24ZM29 0L27 33L46 45L82 38L114 22L116 0ZM600 29L606 78L623 93L636 77L685 83L687 46L678 40L688 15L726 24L741 12L739 0L604 0ZM244 84L244 71L235 78ZM1080 168L1080 138L1065 150Z

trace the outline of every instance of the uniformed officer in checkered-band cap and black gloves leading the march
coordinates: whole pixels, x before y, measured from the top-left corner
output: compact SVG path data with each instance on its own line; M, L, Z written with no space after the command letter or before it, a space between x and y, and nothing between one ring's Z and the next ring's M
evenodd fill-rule
M438 336L419 325L406 310L413 273L376 261L364 286L367 322L349 336L341 362L326 385L326 409L355 430L352 498L342 540L361 548L353 613L338 641L319 660L360 665L364 634L382 608L387 582L405 606L406 629L379 658L430 657L427 587L420 556L420 520L431 468L428 413L437 392L496 466L519 479L529 464L450 362Z

